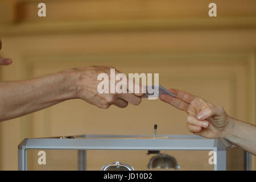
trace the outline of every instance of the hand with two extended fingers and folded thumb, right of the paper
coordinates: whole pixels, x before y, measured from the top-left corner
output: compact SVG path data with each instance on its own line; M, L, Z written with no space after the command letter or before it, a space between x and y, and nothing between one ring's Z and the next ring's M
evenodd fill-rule
M214 106L200 97L181 90L170 89L177 97L160 95L160 100L188 113L187 128L207 138L225 138L232 127L232 118L221 106Z

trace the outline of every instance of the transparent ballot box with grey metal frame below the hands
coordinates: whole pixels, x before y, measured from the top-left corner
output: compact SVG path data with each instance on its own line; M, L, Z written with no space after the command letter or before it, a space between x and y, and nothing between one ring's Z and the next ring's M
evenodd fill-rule
M226 151L233 147L226 139L196 135L26 138L18 146L18 169L103 170L123 164L134 170L226 170ZM250 154L245 159L250 168Z

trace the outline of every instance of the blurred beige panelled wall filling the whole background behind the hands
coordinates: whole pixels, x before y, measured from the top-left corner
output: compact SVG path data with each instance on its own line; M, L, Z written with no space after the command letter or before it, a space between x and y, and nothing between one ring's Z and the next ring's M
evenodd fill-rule
M159 73L160 85L187 90L224 106L233 117L256 124L255 1L216 1L217 18L208 17L209 2L203 0L45 2L47 18L36 17L37 1L0 2L0 12L6 14L0 19L1 55L14 60L13 65L0 69L2 80L113 65L125 73ZM146 135L152 134L155 123L159 134L190 134L185 117L159 100L108 110L81 100L66 101L0 123L1 169L17 169L17 146L24 138ZM143 158L142 153L91 152L88 163L90 169L98 169L112 162L105 155L114 155L144 169L144 160L131 159ZM170 154L180 161L181 169L212 169L206 152ZM239 149L229 152L229 169L241 163L241 154ZM195 155L195 160L189 161L188 155ZM234 160L237 156L239 160ZM30 164L38 167L32 160Z

